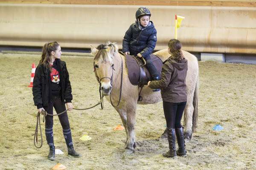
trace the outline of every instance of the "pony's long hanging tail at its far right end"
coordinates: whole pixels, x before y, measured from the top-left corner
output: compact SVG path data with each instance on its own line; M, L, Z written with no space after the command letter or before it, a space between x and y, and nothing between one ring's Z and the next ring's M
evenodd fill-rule
M195 84L195 92L193 96L193 106L194 106L194 111L193 111L193 116L192 116L192 132L196 132L197 128L197 122L198 122L198 93L199 93L199 77L197 77L197 81Z

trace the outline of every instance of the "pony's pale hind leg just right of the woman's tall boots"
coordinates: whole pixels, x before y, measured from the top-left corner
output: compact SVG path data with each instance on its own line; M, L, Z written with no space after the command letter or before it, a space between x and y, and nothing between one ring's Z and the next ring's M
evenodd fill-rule
M184 138L190 140L192 138L192 118L193 118L194 106L192 100L189 99L184 110Z

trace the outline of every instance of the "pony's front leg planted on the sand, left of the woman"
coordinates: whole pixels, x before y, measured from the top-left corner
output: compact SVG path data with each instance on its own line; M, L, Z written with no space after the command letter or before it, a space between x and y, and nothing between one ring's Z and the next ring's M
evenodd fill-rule
M133 153L136 147L136 138L135 138L135 117L136 117L136 109L127 112L127 130L128 130L128 140L126 142L125 149L127 153Z

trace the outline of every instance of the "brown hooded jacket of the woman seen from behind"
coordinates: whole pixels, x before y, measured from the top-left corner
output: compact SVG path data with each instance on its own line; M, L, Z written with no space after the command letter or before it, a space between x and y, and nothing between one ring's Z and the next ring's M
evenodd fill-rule
M154 89L161 88L163 102L186 102L188 61L182 59L177 62L169 57L169 59L166 59L163 63L161 79L159 81L150 82L149 87Z

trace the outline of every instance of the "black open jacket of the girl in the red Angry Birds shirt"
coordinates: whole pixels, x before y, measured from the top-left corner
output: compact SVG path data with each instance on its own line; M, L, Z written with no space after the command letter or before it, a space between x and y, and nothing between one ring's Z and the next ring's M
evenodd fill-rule
M67 71L66 62L60 59L55 59L59 68L61 85L61 100L63 103L71 102L73 96L71 94L72 89L69 80L69 74ZM43 108L49 105L51 99L51 79L50 71L45 68L44 65L38 65L35 69L35 77L33 80L33 99L37 108Z

